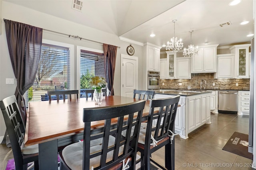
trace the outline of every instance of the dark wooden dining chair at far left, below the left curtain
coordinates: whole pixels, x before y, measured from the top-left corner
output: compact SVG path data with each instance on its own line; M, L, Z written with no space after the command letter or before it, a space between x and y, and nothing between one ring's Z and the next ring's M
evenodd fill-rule
M15 96L0 101L0 107L4 116L6 130L8 132L16 170L27 170L29 162L35 162L34 169L39 169L38 152L33 154L22 153L24 145L25 126L20 115L20 109Z

